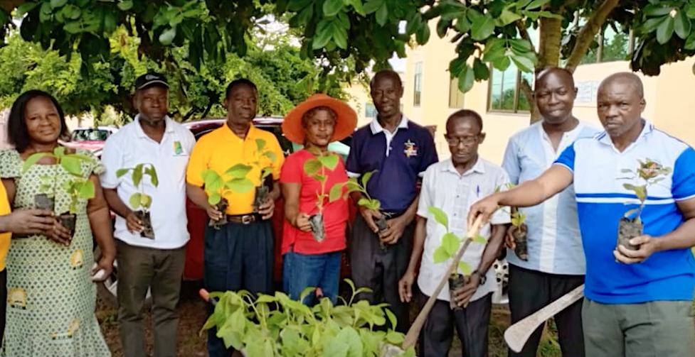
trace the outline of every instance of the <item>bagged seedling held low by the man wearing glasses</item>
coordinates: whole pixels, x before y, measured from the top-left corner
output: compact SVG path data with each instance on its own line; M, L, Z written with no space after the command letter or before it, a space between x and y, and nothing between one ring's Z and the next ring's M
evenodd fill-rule
M487 244L485 238L480 235L476 236L475 238L459 238L456 236L456 234L453 234L449 230L449 218L441 209L430 206L428 207L428 212L434 217L437 223L444 226L444 228L447 230L447 233L442 236L442 244L435 249L435 253L433 254L433 260L435 263L443 263L454 258L456 253L459 251L459 246L462 242L464 243L465 248L468 248L468 245L472 242ZM466 284L470 275L471 266L464 260L461 260L458 262L457 269L454 270L454 272L452 272L452 274L449 276L449 295L452 297L450 299L449 306L452 309L460 309L460 307L458 307L454 302L454 292Z

